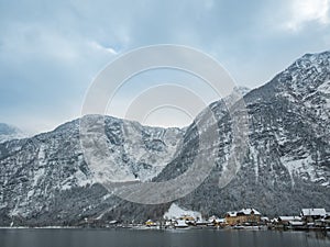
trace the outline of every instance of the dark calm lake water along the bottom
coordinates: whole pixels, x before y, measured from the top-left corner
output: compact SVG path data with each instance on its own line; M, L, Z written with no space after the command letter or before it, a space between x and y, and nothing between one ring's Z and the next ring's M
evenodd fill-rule
M1 247L318 247L330 232L212 229L0 229Z

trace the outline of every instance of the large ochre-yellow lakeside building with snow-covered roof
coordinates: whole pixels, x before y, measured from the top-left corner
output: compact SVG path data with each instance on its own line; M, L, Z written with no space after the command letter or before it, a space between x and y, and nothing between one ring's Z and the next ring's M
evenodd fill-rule
M254 209L242 209L240 211L228 212L226 222L229 225L254 224L261 222L261 213Z

